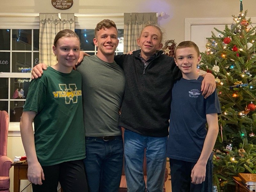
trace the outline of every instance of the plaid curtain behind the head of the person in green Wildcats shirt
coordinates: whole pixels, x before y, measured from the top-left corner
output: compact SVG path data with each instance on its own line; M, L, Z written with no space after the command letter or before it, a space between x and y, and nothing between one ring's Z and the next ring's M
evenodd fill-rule
M75 30L74 13L39 13L39 62L48 66L56 64L52 45L56 34L63 29Z

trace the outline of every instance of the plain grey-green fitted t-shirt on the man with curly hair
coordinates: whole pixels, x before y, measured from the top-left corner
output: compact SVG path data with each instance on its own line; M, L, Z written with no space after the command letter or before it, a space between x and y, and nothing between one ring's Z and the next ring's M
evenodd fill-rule
M125 87L123 69L93 55L84 57L77 71L83 82L85 136L122 135L118 118Z

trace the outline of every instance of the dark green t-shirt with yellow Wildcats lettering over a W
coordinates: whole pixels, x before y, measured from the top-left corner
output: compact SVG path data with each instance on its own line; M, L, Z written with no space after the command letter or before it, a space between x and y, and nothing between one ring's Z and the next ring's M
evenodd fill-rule
M82 78L48 67L30 82L23 111L35 111L36 156L42 166L85 158Z

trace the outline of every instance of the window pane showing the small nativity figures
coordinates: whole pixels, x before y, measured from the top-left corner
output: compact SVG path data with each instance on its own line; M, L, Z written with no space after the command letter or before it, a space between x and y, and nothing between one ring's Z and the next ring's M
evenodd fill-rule
M10 99L26 99L29 82L30 78L11 78Z

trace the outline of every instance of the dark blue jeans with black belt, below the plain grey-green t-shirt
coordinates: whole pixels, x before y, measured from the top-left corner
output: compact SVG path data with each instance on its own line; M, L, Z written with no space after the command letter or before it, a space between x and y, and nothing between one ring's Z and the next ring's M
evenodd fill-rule
M85 137L86 158L84 166L90 192L116 192L120 186L123 168L123 139L104 141Z

